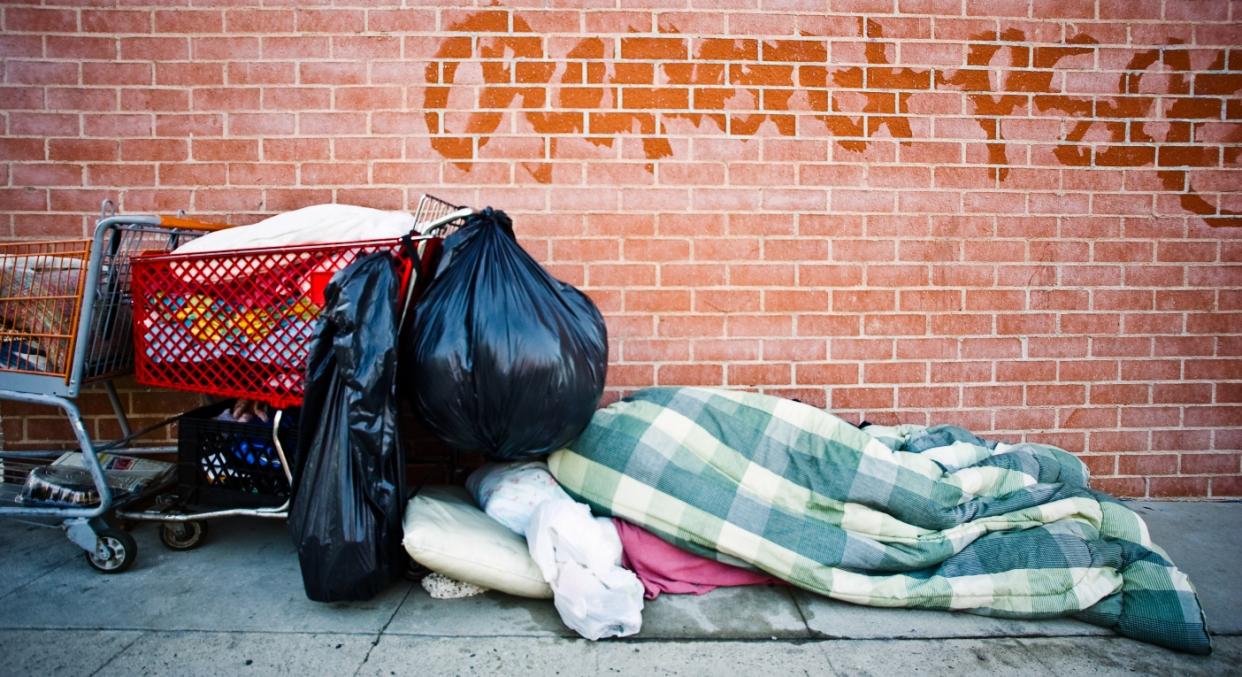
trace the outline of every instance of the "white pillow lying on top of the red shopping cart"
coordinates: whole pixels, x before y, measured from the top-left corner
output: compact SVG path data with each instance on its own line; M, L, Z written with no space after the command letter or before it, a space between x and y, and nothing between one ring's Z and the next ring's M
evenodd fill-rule
M354 205L312 205L277 214L248 226L209 232L181 245L174 253L396 240L412 231L414 226L414 215L405 211L381 211Z

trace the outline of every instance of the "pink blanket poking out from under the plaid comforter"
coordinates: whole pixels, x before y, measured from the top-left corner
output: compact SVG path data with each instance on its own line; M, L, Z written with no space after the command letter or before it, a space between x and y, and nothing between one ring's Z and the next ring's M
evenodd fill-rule
M621 564L642 581L643 597L661 593L702 595L732 585L784 585L761 571L722 564L671 545L651 532L614 519L621 537Z

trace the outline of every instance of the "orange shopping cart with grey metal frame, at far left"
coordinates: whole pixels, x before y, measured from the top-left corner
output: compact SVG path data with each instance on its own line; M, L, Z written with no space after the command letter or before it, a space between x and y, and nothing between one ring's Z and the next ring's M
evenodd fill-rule
M137 547L117 528L116 509L142 494L119 496L109 487L101 451L122 443L96 443L75 400L84 385L102 384L120 427L119 442L132 437L113 385L134 361L132 262L139 253L166 252L217 227L183 217L118 215L104 201L93 239L0 243L0 399L65 414L81 451L72 456L73 472L87 487L76 504L63 496L40 496L31 487L48 489L40 477L55 466L47 461L65 457L65 450L0 451L0 517L58 524L101 571L133 564Z

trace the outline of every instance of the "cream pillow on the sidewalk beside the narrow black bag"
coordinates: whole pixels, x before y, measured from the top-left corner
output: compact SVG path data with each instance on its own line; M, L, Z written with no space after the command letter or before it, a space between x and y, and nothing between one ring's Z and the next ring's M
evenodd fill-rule
M519 597L550 599L527 540L487 517L461 487L425 487L405 508L402 545L437 574Z

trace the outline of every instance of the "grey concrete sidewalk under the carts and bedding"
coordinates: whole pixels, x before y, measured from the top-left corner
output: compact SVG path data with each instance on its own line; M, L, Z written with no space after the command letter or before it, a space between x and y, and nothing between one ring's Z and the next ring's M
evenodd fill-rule
M197 550L134 535L101 575L60 530L0 522L0 656L11 675L1225 675L1242 665L1242 503L1133 503L1195 583L1208 658L1073 620L868 609L779 588L648 602L642 632L587 642L550 601L432 600L400 583L365 604L302 591L283 523L211 524Z

